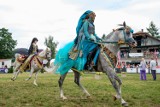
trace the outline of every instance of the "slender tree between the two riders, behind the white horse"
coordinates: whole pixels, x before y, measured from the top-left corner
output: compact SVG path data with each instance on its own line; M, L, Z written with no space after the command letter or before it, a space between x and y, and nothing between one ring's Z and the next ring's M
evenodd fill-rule
M53 36L49 36L48 38L45 38L44 44L51 49L52 58L54 58L58 42L54 42Z

